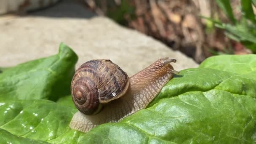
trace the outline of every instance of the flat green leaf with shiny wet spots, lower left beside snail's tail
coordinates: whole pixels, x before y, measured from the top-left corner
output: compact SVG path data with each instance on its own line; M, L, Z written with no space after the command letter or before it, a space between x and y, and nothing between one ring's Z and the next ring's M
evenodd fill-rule
M69 128L75 112L49 100L5 100L0 102L0 128L24 138L72 143L80 135Z

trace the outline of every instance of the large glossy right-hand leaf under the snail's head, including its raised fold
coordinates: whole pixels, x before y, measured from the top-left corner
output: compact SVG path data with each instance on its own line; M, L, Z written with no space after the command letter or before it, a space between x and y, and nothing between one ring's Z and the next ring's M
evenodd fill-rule
M255 72L252 77L245 77L208 68L183 70L169 81L147 109L120 123L94 128L83 142L118 144L124 139L127 143L137 140L147 143L256 142L256 80L252 80L253 77ZM120 133L128 138L118 137ZM99 137L101 139L97 139Z

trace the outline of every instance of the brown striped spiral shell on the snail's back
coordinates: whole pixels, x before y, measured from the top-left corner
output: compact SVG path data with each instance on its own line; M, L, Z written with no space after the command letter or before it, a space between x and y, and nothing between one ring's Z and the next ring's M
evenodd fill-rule
M82 64L71 83L72 99L85 115L97 114L102 104L123 96L129 77L110 60L94 59Z

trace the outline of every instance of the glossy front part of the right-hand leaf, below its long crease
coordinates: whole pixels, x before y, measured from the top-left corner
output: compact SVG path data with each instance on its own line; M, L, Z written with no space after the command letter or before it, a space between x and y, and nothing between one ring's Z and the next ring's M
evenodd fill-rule
M120 123L100 125L82 140L115 144L156 140L159 143L252 143L256 140L255 104L256 100L250 96L222 90L187 92L163 99Z

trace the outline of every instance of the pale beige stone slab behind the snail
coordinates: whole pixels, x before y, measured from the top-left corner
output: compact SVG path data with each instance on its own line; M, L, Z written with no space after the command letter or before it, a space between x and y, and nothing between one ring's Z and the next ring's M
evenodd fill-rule
M38 15L0 19L0 67L56 54L61 42L79 56L77 67L91 59L111 59L131 76L165 56L177 59L172 64L176 70L198 66L179 51L108 18Z

